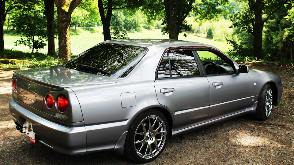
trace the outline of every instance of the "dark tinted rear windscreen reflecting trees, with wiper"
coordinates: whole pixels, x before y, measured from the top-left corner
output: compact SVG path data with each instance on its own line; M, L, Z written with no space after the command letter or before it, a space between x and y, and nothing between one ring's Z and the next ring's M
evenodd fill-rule
M147 53L146 48L102 43L68 61L65 68L109 77L125 77Z

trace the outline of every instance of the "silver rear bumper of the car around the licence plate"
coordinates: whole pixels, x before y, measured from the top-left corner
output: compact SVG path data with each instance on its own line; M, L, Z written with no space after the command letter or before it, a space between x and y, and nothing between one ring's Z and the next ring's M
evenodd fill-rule
M9 110L17 125L23 125L23 119L32 123L36 133L36 141L52 148L56 152L67 155L86 153L86 129L81 127L65 127L44 119L22 106L13 99L9 100ZM29 137L28 137L29 138Z

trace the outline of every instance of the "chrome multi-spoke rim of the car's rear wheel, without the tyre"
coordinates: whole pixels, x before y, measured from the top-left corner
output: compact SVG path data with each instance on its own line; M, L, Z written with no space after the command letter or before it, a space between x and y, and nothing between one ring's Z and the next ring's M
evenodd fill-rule
M138 125L134 135L134 148L138 156L151 159L164 147L167 128L159 116L148 116Z

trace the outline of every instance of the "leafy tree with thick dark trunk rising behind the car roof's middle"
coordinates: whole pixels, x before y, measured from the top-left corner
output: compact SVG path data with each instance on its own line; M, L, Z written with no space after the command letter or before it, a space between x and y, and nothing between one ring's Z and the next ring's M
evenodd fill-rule
M205 20L212 20L222 14L224 9L220 7L228 4L228 0L147 0L144 2L142 10L149 18L154 19L156 15L164 17L163 24L166 27L162 29L162 32L168 33L169 39L178 39L179 33L191 30L191 25L185 20L190 12L194 13L196 20L201 24ZM162 6L164 6L163 13Z

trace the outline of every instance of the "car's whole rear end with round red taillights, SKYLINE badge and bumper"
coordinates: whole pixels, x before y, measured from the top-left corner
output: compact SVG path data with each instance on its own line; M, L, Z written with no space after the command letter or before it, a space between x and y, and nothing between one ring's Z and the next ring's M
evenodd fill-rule
M39 141L57 152L86 153L86 131L74 92L22 72L16 71L13 75L13 98L9 101L17 130L25 132L31 141ZM23 129L24 124L27 131Z

